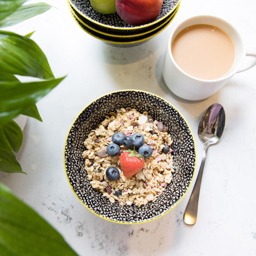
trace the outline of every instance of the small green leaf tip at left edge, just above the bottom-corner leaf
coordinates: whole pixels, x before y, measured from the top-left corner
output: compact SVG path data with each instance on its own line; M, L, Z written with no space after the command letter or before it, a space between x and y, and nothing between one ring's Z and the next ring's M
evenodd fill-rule
M0 148L0 170L7 173L24 173L14 153L7 148Z

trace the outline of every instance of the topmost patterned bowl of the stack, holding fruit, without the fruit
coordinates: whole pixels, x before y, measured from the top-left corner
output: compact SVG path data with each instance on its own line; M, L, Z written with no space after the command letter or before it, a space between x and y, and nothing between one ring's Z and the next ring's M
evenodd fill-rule
M93 10L89 0L67 0L71 8L80 16L86 25L110 35L140 35L159 27L170 18L180 5L181 0L164 0L159 16L151 23L133 26L124 22L115 14L99 14Z

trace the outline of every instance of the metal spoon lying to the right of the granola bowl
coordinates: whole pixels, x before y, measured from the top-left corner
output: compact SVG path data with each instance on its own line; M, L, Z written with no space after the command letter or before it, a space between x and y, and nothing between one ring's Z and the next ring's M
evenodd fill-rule
M184 213L184 222L187 225L194 225L197 221L198 199L200 185L203 176L204 163L206 162L206 153L208 147L215 144L223 134L225 126L225 112L220 104L212 104L206 109L198 125L198 136L203 143L203 159L195 181L194 189L191 193L189 202Z

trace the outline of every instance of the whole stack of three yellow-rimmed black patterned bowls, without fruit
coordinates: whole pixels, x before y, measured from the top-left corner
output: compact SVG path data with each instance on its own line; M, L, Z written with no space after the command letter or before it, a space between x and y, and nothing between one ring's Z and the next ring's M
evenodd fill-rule
M163 31L172 22L180 7L180 0L164 0L157 19L151 23L132 26L115 14L99 14L89 0L67 0L75 22L89 35L112 44L144 42Z

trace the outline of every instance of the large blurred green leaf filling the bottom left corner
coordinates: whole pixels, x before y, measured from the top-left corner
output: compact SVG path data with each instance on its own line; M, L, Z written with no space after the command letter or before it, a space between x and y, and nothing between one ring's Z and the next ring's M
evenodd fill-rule
M1 256L75 256L48 222L0 182Z

